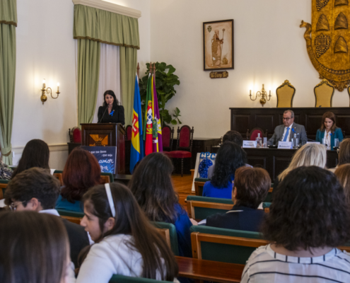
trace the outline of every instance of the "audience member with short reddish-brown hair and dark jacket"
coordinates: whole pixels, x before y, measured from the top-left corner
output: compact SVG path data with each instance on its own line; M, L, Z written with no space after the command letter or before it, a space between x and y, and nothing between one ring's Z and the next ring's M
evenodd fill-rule
M215 214L206 219L206 226L259 231L264 211L257 209L269 192L271 179L262 168L241 167L235 171L232 191L233 208L226 214Z

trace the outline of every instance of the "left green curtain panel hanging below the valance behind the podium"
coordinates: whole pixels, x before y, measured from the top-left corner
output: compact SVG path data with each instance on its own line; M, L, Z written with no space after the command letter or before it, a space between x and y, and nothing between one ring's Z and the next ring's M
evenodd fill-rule
M100 74L100 42L78 40L78 126L93 122Z

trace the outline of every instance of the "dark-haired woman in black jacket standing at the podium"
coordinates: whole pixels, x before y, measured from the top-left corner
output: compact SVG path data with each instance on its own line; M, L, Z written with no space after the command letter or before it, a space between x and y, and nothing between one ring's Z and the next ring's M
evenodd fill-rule
M121 123L125 124L124 107L119 105L113 91L105 91L105 102L98 108L98 123Z

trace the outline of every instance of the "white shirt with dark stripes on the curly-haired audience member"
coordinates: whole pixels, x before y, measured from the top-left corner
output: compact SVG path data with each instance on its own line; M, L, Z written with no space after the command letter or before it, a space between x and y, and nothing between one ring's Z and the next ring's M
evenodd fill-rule
M262 246L245 265L241 283L245 282L350 282L350 255L334 248L319 257L297 258Z

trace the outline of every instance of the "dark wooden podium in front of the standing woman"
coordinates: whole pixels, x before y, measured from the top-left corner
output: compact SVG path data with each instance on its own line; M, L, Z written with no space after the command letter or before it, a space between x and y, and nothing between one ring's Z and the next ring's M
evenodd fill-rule
M117 174L125 174L125 129L122 124L81 124L83 146L117 146Z

